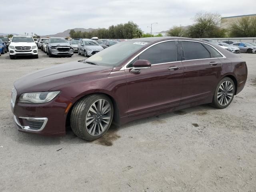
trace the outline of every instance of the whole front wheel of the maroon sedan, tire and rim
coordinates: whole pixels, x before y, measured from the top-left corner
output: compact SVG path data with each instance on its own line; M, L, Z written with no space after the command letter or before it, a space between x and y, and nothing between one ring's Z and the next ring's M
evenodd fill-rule
M113 105L106 95L93 94L76 102L70 115L71 128L78 137L96 140L110 127Z

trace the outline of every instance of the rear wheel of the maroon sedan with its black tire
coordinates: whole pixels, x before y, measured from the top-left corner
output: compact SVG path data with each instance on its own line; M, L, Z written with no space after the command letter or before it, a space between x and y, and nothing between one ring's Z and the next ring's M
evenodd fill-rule
M222 91L221 90L222 88L220 88L220 86L223 84L225 85L225 82L229 82L229 83L227 84L228 85L227 88L225 88L225 86L222 86L222 88L224 88L224 90ZM230 95L231 91L228 91L230 89L229 87L231 87L231 84L232 84L232 96ZM227 106L229 106L234 98L235 90L236 90L236 87L235 87L235 84L232 79L225 77L222 80L220 80L220 82L218 83L216 90L214 92L212 106L214 106L215 108L218 108L218 109L224 109ZM224 104L223 104L223 102L224 102ZM220 104L220 103L222 103L222 104Z

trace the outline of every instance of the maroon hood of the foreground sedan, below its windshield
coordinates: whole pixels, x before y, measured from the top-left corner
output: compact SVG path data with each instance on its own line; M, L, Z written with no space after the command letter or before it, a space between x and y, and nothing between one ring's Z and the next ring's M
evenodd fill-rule
M18 94L48 91L54 87L108 76L113 67L68 62L22 76L14 82Z

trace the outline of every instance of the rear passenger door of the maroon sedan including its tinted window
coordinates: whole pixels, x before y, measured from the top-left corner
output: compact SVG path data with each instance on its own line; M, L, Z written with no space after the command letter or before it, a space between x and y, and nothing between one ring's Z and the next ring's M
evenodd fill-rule
M194 41L179 41L184 80L180 104L204 99L214 93L221 75L222 55L212 46Z

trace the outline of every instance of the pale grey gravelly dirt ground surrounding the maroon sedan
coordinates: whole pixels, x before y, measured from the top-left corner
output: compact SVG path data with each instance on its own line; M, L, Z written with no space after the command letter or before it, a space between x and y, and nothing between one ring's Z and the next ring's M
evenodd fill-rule
M110 127L94 142L18 132L10 92L20 76L83 59L0 56L0 192L256 191L256 54L244 90L226 109L208 105Z

